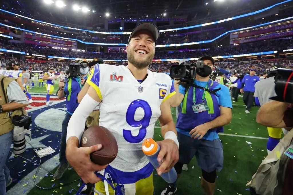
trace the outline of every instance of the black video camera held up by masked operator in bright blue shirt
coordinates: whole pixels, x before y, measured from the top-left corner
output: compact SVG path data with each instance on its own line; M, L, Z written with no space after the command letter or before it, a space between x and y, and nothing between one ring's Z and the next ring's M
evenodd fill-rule
M180 78L180 82L190 82L195 78L196 69L202 68L204 61L196 61L196 63L190 61L184 61L180 65L171 65L170 77Z

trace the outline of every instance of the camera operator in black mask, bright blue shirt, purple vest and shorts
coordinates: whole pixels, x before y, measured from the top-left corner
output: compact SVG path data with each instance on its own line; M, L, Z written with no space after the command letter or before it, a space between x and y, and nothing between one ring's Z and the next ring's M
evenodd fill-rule
M179 161L174 167L179 177L183 164L188 164L196 156L202 169L201 185L205 194L211 195L216 187L216 171L223 168L224 160L223 145L218 133L223 132L223 126L231 121L232 102L228 87L209 79L214 70L213 58L203 56L198 60L204 61L204 66L196 71L193 82L196 87L178 87L178 80L175 79L174 82L174 88L178 90L177 106L182 102L176 123ZM161 195L171 195L176 190L175 182Z

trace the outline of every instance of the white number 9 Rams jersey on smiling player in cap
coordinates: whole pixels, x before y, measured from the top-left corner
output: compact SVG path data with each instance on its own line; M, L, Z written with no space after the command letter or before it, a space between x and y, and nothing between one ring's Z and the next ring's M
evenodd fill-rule
M99 125L117 140L118 154L110 165L124 172L140 170L149 163L142 143L154 137L160 105L175 94L171 78L147 70L147 78L140 84L126 66L97 64L87 82L102 99Z

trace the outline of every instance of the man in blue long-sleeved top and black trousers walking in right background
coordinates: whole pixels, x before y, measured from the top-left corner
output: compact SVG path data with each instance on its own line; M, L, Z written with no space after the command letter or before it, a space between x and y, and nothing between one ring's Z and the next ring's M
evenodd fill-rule
M259 81L259 77L255 75L256 70L251 69L249 75L245 75L242 80L240 92L243 92L243 101L246 105L245 113L249 114L249 110L252 107L255 92L255 83Z

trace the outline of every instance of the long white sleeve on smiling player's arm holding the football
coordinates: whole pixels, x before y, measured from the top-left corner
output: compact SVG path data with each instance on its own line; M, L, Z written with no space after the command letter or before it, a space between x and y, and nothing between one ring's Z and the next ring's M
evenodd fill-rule
M71 136L75 136L80 142L81 136L84 133L86 118L88 118L99 103L86 93L68 122L66 141Z

